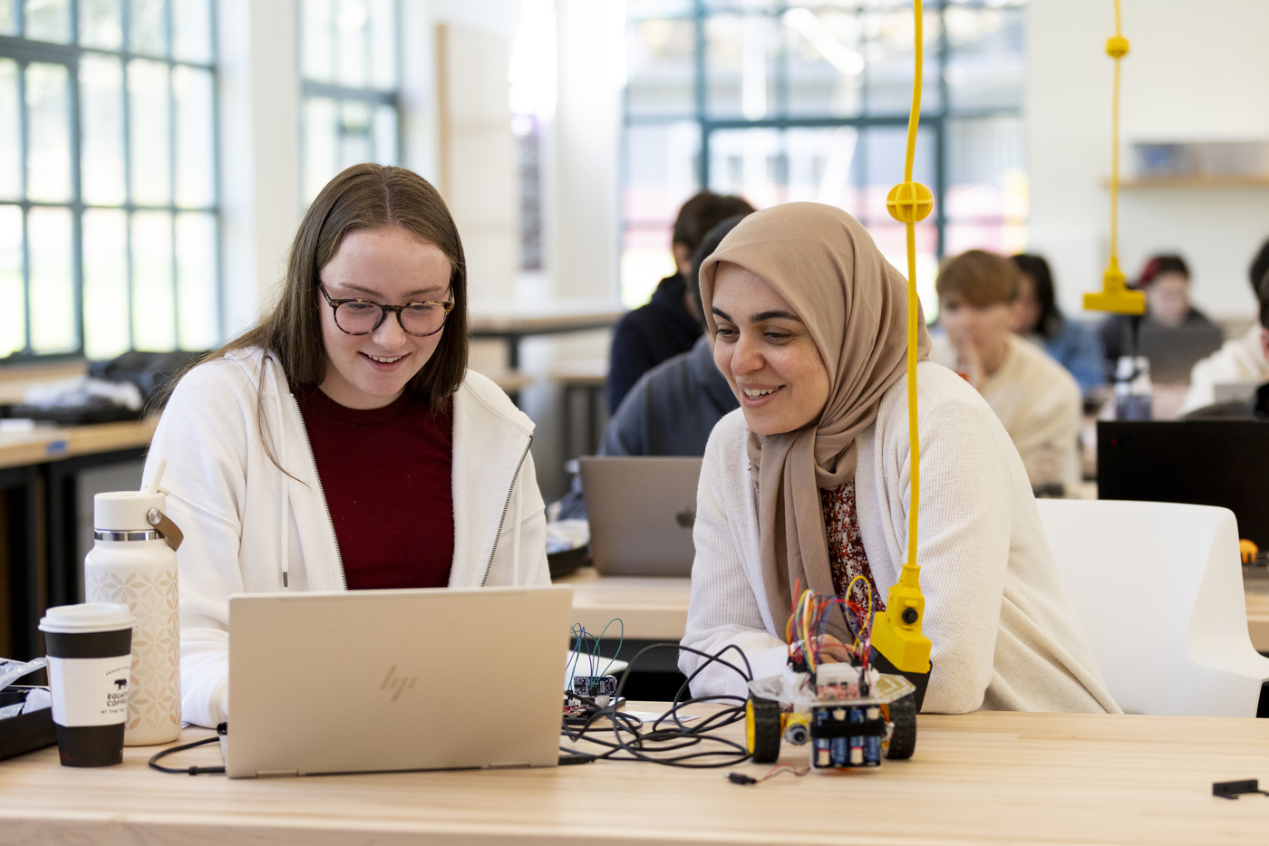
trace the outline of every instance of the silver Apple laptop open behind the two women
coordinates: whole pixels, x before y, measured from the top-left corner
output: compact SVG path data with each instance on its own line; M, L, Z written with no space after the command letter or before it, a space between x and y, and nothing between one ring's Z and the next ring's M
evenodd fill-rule
M590 557L604 576L690 576L700 459L582 457Z

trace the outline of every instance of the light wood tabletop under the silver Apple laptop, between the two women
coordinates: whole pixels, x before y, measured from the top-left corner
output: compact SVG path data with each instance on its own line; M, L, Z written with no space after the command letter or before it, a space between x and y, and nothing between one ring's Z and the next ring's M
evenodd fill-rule
M627 638L678 641L688 625L692 580L634 576L600 576L582 567L571 576L552 580L572 586L572 623L599 633L621 618ZM615 629L613 629L615 632Z

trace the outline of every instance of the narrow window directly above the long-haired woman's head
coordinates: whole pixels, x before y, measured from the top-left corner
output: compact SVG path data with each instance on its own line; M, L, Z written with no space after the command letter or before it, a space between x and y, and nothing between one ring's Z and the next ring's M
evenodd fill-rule
M305 202L360 161L397 164L396 0L301 0Z

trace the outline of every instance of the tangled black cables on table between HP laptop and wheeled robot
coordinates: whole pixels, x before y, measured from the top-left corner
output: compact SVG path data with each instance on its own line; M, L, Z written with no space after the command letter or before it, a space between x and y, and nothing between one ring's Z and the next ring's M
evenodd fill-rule
M632 714L623 714L617 710L621 703L622 691L626 689L626 682L631 677L631 671L638 662L640 657L645 652L651 652L654 649L681 649L684 652L690 652L707 658L697 670L688 676L687 681L679 687L674 694L674 701L670 704L670 709L657 717L651 726L651 729L642 731L645 722ZM723 660L723 654L728 651L735 649L745 665L741 670L737 665ZM749 748L744 743L737 743L736 741L728 739L726 737L712 737L707 732L711 732L725 726L731 726L732 723L745 719L745 698L742 696L690 696L683 699L683 694L690 690L692 681L704 671L712 663L720 663L725 667L735 670L741 679L745 681L753 681L754 671L749 666L749 658L740 647L735 644L728 644L716 652L709 654L708 652L702 652L700 649L693 649L692 647L679 646L678 643L652 643L643 647L638 653L631 660L626 666L626 674L622 676L621 682L617 685L617 694L613 696L610 704L607 708L598 708L591 705L586 710L586 719L580 727L565 726L562 732L571 741L586 741L588 743L595 743L607 748L607 752L600 752L594 755L594 758L608 758L613 761L647 761L650 764L662 764L665 766L680 766L690 769L714 769L736 766L737 764L744 764L749 760ZM718 701L718 700L731 700L739 704L725 708L723 710L711 714L709 717L702 718L695 726L689 726L683 722L679 709L694 705L698 703ZM613 733L613 739L600 739L594 737L598 731L594 723L607 719L612 723L610 731ZM673 727L661 728L662 724L673 723ZM603 731L607 732L608 727ZM589 734L588 734L589 733ZM681 752L683 750L698 746L703 742L720 743L725 748L721 750L698 750L694 752L683 752L681 755L674 755L675 752ZM576 752L576 748L561 747L565 752ZM624 753L618 756L618 753ZM722 760L717 760L722 758Z

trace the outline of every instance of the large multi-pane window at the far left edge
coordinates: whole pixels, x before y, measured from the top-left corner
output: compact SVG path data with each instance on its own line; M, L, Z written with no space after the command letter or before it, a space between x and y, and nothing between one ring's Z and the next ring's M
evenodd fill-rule
M0 0L0 356L221 337L213 0Z

